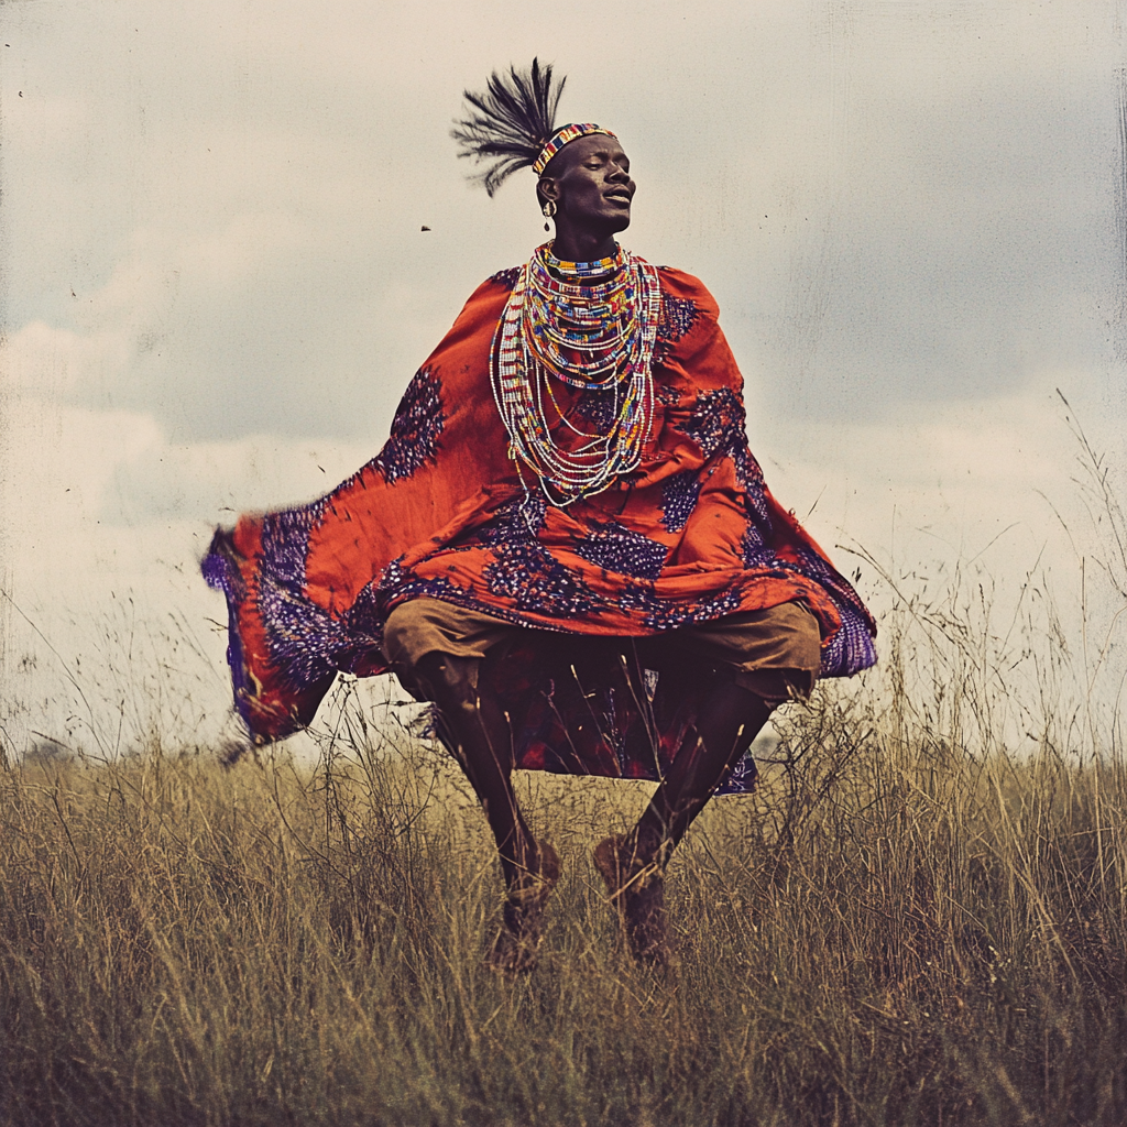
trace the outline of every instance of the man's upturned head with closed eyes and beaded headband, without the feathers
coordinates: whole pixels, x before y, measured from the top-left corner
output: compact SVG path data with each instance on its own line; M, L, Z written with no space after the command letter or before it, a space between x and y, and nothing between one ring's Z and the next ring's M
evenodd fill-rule
M559 167L554 167L559 165ZM604 133L579 137L557 153L544 171L541 192L554 198L569 225L593 231L624 231L630 225L630 201L636 190L630 159ZM554 190L545 190L554 185Z

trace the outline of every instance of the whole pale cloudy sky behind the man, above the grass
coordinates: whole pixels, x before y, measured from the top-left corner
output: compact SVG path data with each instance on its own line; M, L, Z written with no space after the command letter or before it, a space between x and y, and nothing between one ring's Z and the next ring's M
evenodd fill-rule
M375 454L543 239L532 174L489 199L449 135L534 55L631 157L622 241L719 301L752 449L842 570L1048 568L1086 610L1077 421L1127 465L1125 11L8 0L0 742L230 730L211 532Z

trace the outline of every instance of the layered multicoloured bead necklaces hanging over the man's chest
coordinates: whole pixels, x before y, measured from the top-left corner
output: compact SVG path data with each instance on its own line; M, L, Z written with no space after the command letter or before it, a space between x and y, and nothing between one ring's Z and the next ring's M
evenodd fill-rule
M602 492L641 462L654 421L660 311L657 269L621 247L611 258L568 263L545 245L521 270L494 334L490 378L509 456L531 467L550 504ZM552 381L613 394L610 426L577 427ZM561 426L570 449L553 437Z

